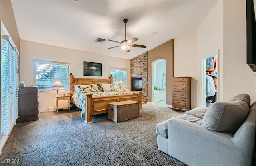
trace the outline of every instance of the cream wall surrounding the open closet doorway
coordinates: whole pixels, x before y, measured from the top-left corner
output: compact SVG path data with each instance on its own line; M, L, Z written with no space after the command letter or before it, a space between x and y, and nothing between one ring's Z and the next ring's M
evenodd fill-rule
M239 93L247 93L252 101L256 100L255 73L246 64L245 10L244 0L219 1L196 29L174 39L174 76L193 77L192 108L204 104L202 59L218 50L219 100L227 101ZM189 69L180 68L183 65Z

